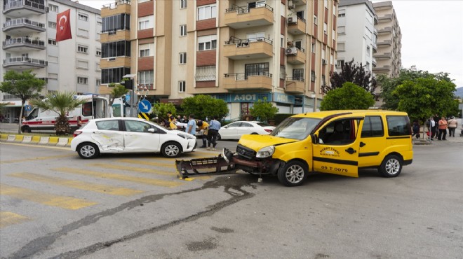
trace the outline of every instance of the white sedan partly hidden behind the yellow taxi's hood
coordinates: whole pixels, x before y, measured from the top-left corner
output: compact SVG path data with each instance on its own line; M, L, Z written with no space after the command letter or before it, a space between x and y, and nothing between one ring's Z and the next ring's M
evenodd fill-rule
M268 135L273 130L274 126L260 121L236 121L221 127L218 139L240 139L244 134Z

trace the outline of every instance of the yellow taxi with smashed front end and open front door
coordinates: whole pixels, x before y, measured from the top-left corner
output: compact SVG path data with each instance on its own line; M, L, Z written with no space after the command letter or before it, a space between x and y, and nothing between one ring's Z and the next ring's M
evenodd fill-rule
M251 174L277 175L299 186L311 172L358 177L359 168L377 168L384 177L401 174L413 159L408 114L355 110L302 113L269 135L243 135L235 167Z

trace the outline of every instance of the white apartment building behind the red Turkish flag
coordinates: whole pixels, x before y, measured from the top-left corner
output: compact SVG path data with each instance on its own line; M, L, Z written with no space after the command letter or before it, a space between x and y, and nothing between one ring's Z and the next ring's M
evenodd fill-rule
M32 69L46 80L43 93L98 93L101 71L100 10L70 0L3 0L0 80L9 70ZM70 10L72 39L55 41L58 13ZM0 93L3 116L13 121L21 100Z

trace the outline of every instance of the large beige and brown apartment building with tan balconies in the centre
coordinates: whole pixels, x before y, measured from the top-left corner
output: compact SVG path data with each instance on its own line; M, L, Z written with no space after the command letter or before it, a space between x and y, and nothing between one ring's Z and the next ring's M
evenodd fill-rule
M102 14L102 85L133 74L152 102L210 94L241 118L257 100L314 111L335 69L338 1L115 1Z

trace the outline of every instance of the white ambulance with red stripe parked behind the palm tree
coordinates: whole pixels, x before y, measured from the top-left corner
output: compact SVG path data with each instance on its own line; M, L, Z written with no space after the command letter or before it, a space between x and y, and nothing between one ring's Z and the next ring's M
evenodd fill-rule
M87 123L90 119L110 117L109 101L107 98L93 94L74 95L74 97L76 99L83 99L86 102L66 114L73 131L78 129L82 124ZM55 130L56 118L58 118L58 113L55 111L43 111L43 109L34 108L27 115L26 120L22 121L21 131Z

